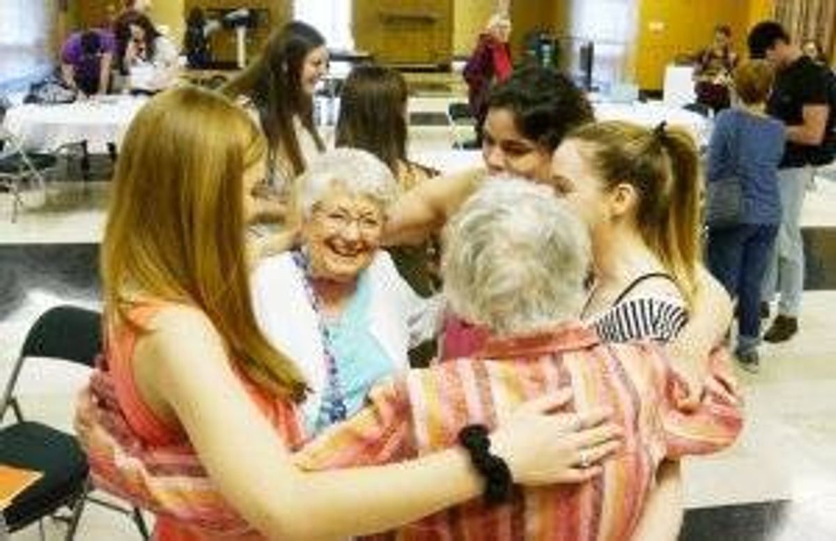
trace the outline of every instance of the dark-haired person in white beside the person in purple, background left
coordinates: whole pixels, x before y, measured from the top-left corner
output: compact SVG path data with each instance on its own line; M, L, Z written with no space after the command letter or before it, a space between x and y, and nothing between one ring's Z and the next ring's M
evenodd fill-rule
M117 40L123 51L121 66L131 90L157 92L174 83L177 76L176 45L151 23L150 18L131 12L120 18Z

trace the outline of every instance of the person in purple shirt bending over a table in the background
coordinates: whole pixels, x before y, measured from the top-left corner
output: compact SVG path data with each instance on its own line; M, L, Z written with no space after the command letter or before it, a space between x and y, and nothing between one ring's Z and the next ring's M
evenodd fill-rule
M61 76L84 95L105 94L116 50L113 34L93 28L72 34L61 50Z

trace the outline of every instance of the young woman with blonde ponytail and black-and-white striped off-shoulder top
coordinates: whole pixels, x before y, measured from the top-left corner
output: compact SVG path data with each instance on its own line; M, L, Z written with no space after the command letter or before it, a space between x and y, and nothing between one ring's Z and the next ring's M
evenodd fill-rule
M712 310L724 326L727 299L717 302L722 294L701 265L701 175L691 135L664 123L654 130L616 121L585 125L563 140L552 166L549 184L592 236L594 283L583 316L603 339L669 342L689 314ZM682 342L680 336L671 345ZM700 385L699 367L678 368ZM633 539L672 541L682 516L679 464L665 462Z

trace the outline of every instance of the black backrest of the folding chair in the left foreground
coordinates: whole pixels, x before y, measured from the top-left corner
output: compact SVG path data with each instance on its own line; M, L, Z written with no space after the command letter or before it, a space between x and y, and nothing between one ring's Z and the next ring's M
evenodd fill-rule
M101 314L77 306L48 309L32 325L21 357L48 357L93 366L102 350Z

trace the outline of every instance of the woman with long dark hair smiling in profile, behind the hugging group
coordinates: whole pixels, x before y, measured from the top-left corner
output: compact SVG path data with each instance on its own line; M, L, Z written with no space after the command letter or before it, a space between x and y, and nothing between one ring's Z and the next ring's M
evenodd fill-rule
M261 56L222 89L244 98L268 140L268 182L287 189L325 150L314 126L314 90L328 69L328 49L316 28L287 23L269 38Z

